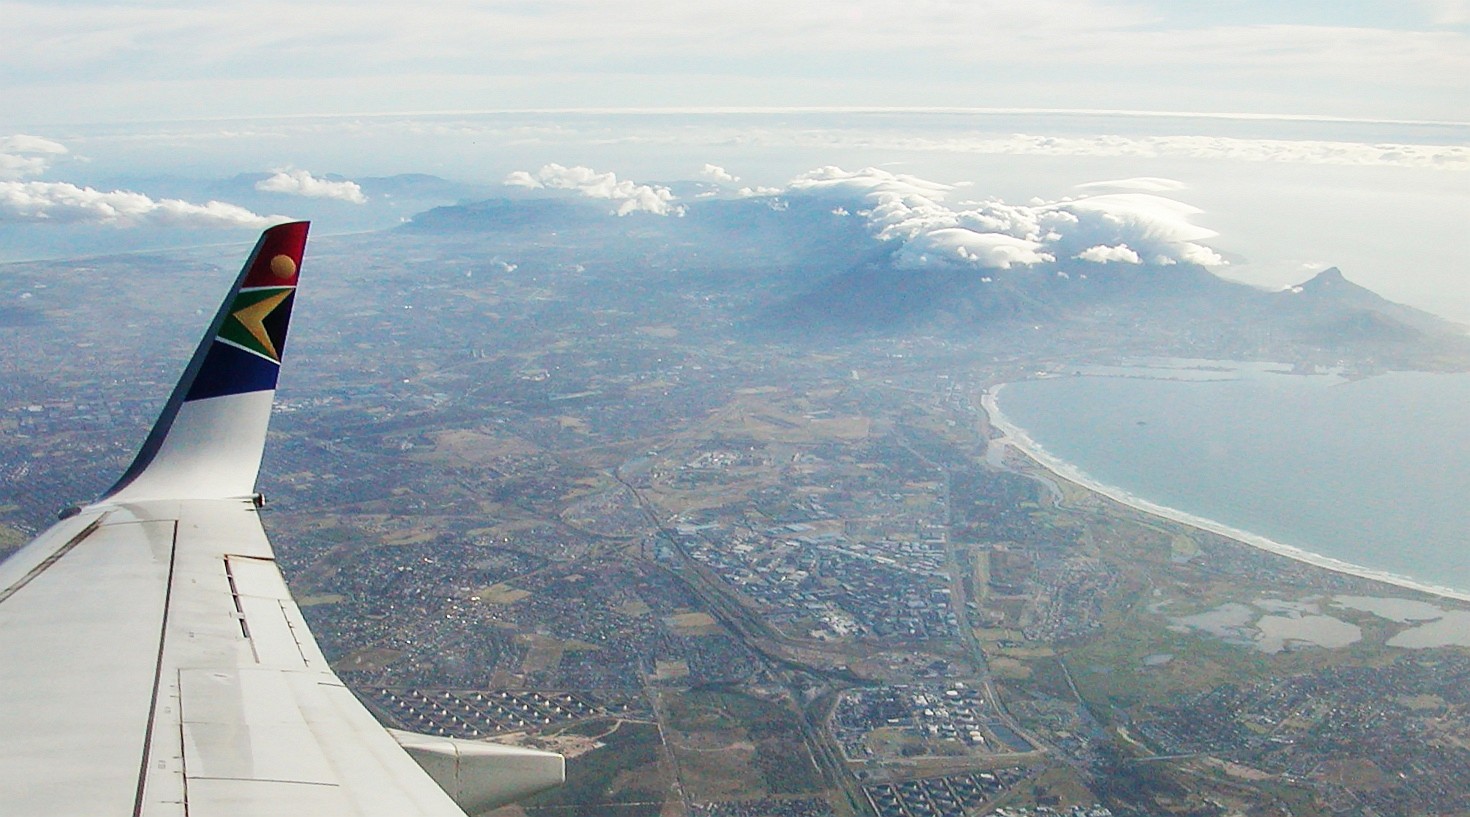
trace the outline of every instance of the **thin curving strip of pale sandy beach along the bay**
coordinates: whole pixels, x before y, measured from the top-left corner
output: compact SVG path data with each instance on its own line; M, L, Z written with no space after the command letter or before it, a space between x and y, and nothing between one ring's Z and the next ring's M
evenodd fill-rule
M1029 433L1026 433L1026 429L1010 422L1005 417L1005 413L1001 411L1000 403L997 400L1003 388L1005 388L1005 384L998 384L986 388L985 392L980 395L980 407L985 410L986 417L989 417L991 426L1001 432L1000 438L991 439L989 442L992 445L1008 445L1020 451L1022 454L1025 454L1028 458L1030 458L1033 463L1045 469L1050 475L1053 475L1057 479L1080 485L1082 488L1086 488L1094 494L1101 494L1116 503L1125 504L1142 513L1167 519L1170 522L1177 522L1180 525L1188 525L1191 528L1207 530L1210 533L1219 533L1222 536L1235 539L1244 545L1250 545L1252 548L1263 550L1276 555L1302 561L1314 567L1322 567L1324 570L1332 570L1335 573L1344 573L1348 576L1357 576L1360 579L1382 582L1386 585L1394 585L1398 588L1439 598L1470 601L1470 592L1467 591L1457 591L1454 588L1429 585L1416 579L1410 579L1407 576L1398 576L1395 573L1386 573L1383 570L1373 570L1372 567L1352 564L1349 561L1332 558L1330 555L1322 555L1317 553L1305 551L1298 547L1269 539L1258 533L1251 533L1250 530L1232 528L1229 525L1216 522L1213 519L1205 519L1202 516L1195 516L1192 513L1186 513L1179 508L1172 508L1167 505L1161 505L1158 503L1151 503L1122 488L1098 482L1097 479L1082 472L1082 469L1047 451L1041 444L1032 439Z

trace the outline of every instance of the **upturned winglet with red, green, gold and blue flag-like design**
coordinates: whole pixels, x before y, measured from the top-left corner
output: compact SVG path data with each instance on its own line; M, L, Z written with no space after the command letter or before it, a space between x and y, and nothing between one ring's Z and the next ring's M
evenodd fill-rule
M260 235L137 458L103 500L254 494L307 226Z

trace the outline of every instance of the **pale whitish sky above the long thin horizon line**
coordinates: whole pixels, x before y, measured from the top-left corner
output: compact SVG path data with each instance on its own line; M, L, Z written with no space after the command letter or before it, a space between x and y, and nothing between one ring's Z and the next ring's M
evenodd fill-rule
M1466 119L1466 0L31 0L10 126L504 107Z

